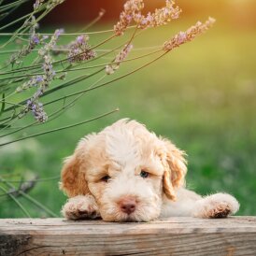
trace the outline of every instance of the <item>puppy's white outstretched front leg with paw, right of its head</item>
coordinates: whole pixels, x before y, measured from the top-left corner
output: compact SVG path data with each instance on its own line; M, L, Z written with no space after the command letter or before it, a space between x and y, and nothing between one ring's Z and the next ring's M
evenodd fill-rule
M237 200L230 194L216 193L202 197L181 188L177 192L176 202L164 199L161 217L224 218L235 214L238 209Z

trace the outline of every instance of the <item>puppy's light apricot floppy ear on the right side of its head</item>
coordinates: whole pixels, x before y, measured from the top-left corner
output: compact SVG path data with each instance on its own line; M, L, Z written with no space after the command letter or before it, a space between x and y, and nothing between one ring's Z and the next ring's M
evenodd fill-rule
M187 162L184 158L185 152L176 148L169 140L164 141L164 178L163 188L165 195L175 201L176 193L175 188L184 184L184 178L187 173Z

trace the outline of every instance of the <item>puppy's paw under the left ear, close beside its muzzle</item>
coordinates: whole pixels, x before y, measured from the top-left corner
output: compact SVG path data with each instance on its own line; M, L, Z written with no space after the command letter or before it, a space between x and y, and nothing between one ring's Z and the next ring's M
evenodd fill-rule
M62 208L66 219L85 220L100 217L98 206L92 195L77 195L67 200Z

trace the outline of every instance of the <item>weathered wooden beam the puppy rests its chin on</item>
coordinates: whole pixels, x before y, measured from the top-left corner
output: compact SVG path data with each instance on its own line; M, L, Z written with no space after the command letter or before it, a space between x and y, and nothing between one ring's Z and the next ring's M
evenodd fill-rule
M256 255L256 217L0 220L0 255Z

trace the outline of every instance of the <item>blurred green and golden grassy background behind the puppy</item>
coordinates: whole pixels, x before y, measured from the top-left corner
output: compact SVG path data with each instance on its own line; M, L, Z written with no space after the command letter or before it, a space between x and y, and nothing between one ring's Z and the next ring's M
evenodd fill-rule
M87 6L85 2L92 3ZM61 26L67 32L76 31L86 23L86 12L90 10L94 16L97 14L100 4L97 1L93 5L93 2L67 0L63 7L50 14L42 29L52 31ZM123 1L115 1L118 2L116 4L114 1L99 2L108 14L92 28L93 31L111 28L123 4ZM159 5L155 5L155 1L149 1L148 7L153 9L163 3L159 1ZM72 154L79 138L100 131L113 121L130 118L145 123L157 135L170 138L178 148L188 153L187 183L195 192L230 192L241 204L239 215L255 215L256 3L254 0L182 0L177 3L183 9L181 18L138 36L134 42L135 50L162 45L178 31L185 30L198 20L205 21L208 16L217 18L215 26L206 35L170 52L132 77L87 93L59 119L30 129L23 135L83 121L115 107L120 107L118 113L76 128L0 148L1 174L7 178L8 175L19 173L25 174L26 178L33 174L39 178L56 177L60 174L64 157ZM84 7L85 13L81 13L81 7ZM73 17L72 20L72 16L68 15L76 13L76 10L77 19ZM63 14L59 15L59 19L58 11ZM65 23L63 17L66 18ZM91 36L91 44L106 36ZM118 38L104 48L110 49L123 40ZM1 43L3 41L5 39L1 38ZM135 50L131 56L138 54ZM148 51L141 51L145 52ZM98 63L102 62L107 62L107 59ZM139 60L122 64L111 78L144 62ZM68 78L78 74L70 74ZM76 90L87 88L94 79L78 83ZM74 92L74 88L58 93L67 92ZM54 107L47 110L50 112ZM14 138L16 136L13 135L6 140ZM65 196L59 191L57 181L37 182L29 194L59 214ZM33 217L48 216L25 198L19 197L19 200ZM1 218L23 216L12 200L0 196Z

